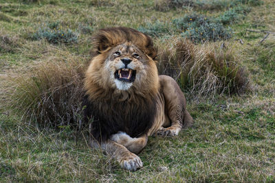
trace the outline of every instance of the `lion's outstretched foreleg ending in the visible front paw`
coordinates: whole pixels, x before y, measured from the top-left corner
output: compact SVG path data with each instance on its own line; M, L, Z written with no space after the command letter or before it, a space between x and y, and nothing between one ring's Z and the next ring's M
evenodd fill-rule
M98 143L91 142L92 147L96 144ZM107 154L113 156L116 160L118 160L120 166L123 169L136 171L143 166L140 157L131 153L131 151L126 149L126 147L124 147L123 145L115 143L115 141L107 140L106 142L101 143L100 146L96 145L96 147L101 147L104 151L107 152Z

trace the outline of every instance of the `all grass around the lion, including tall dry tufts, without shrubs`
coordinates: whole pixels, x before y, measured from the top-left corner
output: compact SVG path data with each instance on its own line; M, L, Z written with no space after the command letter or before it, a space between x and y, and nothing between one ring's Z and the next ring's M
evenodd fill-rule
M260 5L260 1L241 1L249 9L237 10L228 2L159 11L153 0L0 0L0 182L274 182L275 38L270 34L259 44L265 34L245 29L275 32L275 5L272 0ZM232 28L232 38L225 42L194 44L173 27L166 32L173 19L192 10L215 19L234 10L245 18L225 23ZM73 109L80 110L78 89L93 47L91 34L102 27L137 29L154 23L165 25L164 33L154 37L159 71L177 79L195 125L175 138L150 137L140 154L144 167L129 172L102 151L90 149L87 133L77 132L71 123L66 125L68 120L63 117L78 117ZM68 27L78 35L77 42L52 44L45 38L30 39L43 26ZM235 40L240 38L243 45ZM192 75L188 64L181 65L182 60L193 65L201 60L201 64ZM207 80L211 77L201 77L206 71L217 79L216 85ZM236 77L238 71L241 76ZM236 94L246 86L245 81L250 90ZM203 90L203 84L206 89L215 87ZM17 97L7 93L10 89L19 90ZM59 98L55 101L51 97L56 92ZM28 95L34 98L24 97ZM23 98L30 106L21 108ZM36 99L44 99L43 104L52 110L35 108ZM56 115L61 111L58 108L65 110L61 118ZM22 118L28 111L41 115ZM45 112L50 111L57 128L50 127L50 121L45 125L44 118L50 117Z

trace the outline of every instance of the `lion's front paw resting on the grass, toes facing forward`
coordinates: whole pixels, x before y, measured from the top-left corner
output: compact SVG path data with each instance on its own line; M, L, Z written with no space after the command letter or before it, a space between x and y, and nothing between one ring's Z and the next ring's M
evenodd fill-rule
M121 160L118 160L118 162L120 162L120 166L123 169L129 171L136 171L137 169L140 169L143 166L140 157L133 153L131 153L129 156L122 157Z

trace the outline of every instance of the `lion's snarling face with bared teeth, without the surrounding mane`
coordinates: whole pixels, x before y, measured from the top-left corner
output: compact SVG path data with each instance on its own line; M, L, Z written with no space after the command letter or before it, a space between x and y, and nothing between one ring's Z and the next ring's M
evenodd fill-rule
M110 82L115 83L118 90L129 90L146 80L146 73L155 69L153 64L153 60L135 45L124 43L109 51L104 69L109 71Z

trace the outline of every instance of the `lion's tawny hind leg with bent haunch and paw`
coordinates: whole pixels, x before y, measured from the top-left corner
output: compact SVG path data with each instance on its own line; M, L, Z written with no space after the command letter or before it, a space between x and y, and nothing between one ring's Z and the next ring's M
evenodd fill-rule
M182 127L192 124L192 117L186 110L186 99L177 82L172 77L166 75L159 75L159 82L162 87L165 113L170 121L170 126L161 127L157 131L157 134L161 136L177 136Z

